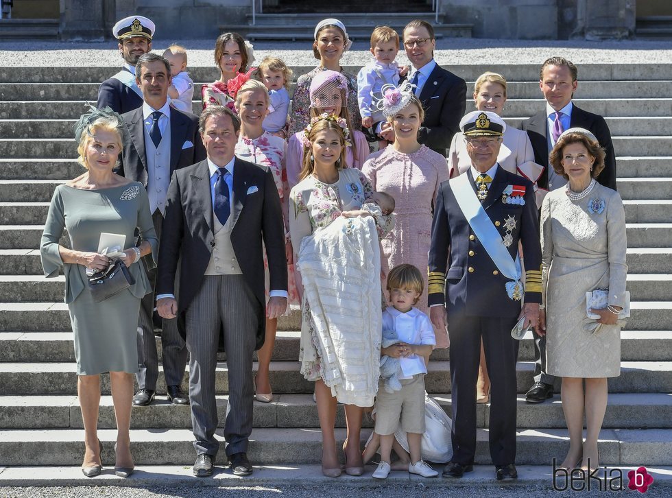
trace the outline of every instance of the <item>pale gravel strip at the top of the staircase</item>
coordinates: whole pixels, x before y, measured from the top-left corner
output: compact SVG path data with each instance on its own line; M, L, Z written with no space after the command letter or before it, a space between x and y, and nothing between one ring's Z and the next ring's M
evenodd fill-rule
M165 49L176 40L154 40L155 51ZM213 62L213 40L181 40L188 49L189 64L210 66ZM254 42L257 60L274 55L291 60L292 65L313 65L307 42ZM357 66L368 62L368 42L359 41L343 58L343 65ZM437 40L436 58L440 64L540 64L553 55L564 56L576 64L610 63L649 64L672 62L669 41L551 41L551 40L492 40L477 38L446 38ZM407 63L405 56L399 62ZM115 41L105 42L2 42L0 67L49 66L119 66L121 58Z

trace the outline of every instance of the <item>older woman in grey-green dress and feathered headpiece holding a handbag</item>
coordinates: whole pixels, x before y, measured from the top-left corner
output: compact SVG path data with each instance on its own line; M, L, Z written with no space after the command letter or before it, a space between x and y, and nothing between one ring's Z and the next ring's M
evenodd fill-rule
M121 116L110 108L92 109L77 122L81 163L86 172L58 185L40 244L45 276L55 277L63 268L65 302L68 303L77 359L77 394L84 422L84 462L87 477L102 469L102 446L97 436L100 374L110 372L112 401L117 419L115 473L133 472L130 453L130 415L133 375L138 371L137 327L140 300L150 290L147 275L138 261L152 253L156 260L158 240L143 185L112 172L121 152ZM136 228L141 244L136 246ZM59 244L67 229L70 247ZM135 284L96 303L88 289L86 271L104 270L110 258L99 254L101 233L125 235L123 261Z

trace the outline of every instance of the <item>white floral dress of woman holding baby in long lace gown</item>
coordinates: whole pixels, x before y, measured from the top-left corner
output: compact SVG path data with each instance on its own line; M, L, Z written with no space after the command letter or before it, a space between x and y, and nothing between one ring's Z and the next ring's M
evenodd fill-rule
M318 228L331 224L343 211L361 209L372 199L371 182L355 168L339 169L339 179L335 183L324 183L315 176L308 176L291 189L289 194L289 233L291 234L294 260L298 261L301 241ZM379 237L385 237L394 227L394 217L374 213ZM312 326L310 307L305 296L302 303L302 320L308 327L313 344L317 343ZM302 332L303 333L303 332ZM303 348L302 348L303 349ZM319 348L317 351L320 351ZM302 352L299 359L302 360ZM309 381L322 379L319 358L313 362L302 362L302 373Z

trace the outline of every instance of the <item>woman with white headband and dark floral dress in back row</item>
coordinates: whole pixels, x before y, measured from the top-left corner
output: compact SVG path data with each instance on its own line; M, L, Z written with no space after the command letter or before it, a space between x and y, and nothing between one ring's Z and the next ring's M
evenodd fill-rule
M323 19L315 26L314 34L313 56L320 60L320 64L296 80L291 104L293 120L289 134L300 132L308 126L311 119L309 110L311 82L315 75L325 69L341 73L346 78L348 82L346 107L350 113L352 128L361 130L361 115L359 114L359 104L357 104L357 76L343 71L340 62L344 52L350 49L352 45L346 27L338 19Z

